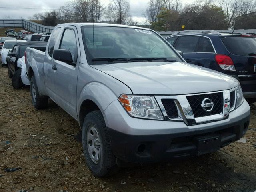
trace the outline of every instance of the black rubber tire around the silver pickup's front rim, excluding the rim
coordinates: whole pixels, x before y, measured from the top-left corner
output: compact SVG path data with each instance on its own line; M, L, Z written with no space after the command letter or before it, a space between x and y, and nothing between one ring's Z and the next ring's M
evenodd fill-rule
M100 138L101 156L98 163L93 162L88 151L90 141L87 140L87 133L91 127L94 127L97 130ZM119 168L116 165L116 158L112 153L110 146L110 136L102 113L99 110L88 113L84 118L82 143L87 165L95 176L106 177L118 172Z

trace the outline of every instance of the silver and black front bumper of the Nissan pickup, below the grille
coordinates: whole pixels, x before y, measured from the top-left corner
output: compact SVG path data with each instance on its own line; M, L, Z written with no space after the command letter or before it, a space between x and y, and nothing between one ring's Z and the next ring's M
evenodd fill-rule
M248 130L250 107L244 100L227 119L193 126L133 118L118 101L108 106L104 116L116 157L150 163L213 152L240 139Z

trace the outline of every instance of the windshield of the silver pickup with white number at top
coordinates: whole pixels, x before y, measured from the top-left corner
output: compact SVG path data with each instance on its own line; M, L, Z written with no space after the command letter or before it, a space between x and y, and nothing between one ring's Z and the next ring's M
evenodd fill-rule
M82 34L88 64L120 62L111 58L165 58L182 61L172 48L156 33L124 27L83 26ZM100 60L99 58L110 58ZM97 60L98 59L98 60ZM127 62L127 60L122 62ZM145 61L149 61L146 60ZM152 60L150 60L152 61ZM161 61L161 60L159 60Z

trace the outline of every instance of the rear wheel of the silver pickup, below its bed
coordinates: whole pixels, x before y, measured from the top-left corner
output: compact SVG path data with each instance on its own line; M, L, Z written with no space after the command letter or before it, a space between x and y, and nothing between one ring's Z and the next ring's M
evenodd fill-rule
M32 98L32 104L36 109L44 109L48 106L48 97L41 96L38 91L35 76L32 76L30 80L30 94Z

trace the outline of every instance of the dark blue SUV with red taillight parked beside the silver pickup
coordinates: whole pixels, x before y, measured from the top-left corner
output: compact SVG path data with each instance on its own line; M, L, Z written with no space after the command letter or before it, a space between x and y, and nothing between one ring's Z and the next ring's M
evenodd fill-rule
M166 40L186 62L228 74L239 80L244 98L256 102L256 38L245 33L186 30Z

